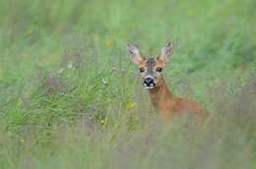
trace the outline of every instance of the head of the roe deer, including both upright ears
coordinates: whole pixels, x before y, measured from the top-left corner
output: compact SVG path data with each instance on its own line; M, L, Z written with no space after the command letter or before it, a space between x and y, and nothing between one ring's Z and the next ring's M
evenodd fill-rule
M161 73L167 63L167 57L172 53L172 42L168 42L161 48L158 57L144 57L140 49L134 44L126 45L127 52L132 61L138 66L139 72L143 78L143 85L147 89L153 89L161 84Z

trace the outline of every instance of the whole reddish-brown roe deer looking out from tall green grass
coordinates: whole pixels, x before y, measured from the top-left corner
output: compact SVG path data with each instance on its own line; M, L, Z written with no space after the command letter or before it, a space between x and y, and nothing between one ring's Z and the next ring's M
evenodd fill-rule
M149 90L154 107L160 112L164 120L173 115L189 113L198 117L205 117L206 111L196 101L175 97L165 84L161 72L165 67L168 55L172 54L172 42L168 42L161 48L157 58L144 57L140 49L134 44L126 45L127 52L132 61L138 66L144 81L144 86Z

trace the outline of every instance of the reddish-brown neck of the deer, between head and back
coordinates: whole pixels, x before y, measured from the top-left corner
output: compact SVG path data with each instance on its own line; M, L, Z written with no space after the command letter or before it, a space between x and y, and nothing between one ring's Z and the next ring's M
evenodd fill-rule
M149 92L152 103L157 110L161 110L161 107L164 107L162 104L166 104L166 102L171 103L174 101L173 94L168 89L163 78L161 78L160 84L153 89L150 89Z

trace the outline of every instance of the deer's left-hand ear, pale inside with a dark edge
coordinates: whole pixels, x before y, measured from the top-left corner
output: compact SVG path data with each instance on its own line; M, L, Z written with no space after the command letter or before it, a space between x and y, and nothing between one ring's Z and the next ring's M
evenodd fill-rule
M145 60L145 58L141 55L140 49L136 45L127 43L126 50L130 54L132 61L135 64L139 65Z

